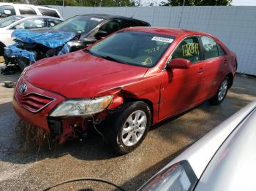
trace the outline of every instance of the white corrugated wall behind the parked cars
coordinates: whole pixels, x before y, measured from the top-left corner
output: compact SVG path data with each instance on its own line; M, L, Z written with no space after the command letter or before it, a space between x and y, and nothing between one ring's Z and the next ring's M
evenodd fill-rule
M64 18L107 13L213 34L238 56L238 72L256 76L256 7L53 7Z

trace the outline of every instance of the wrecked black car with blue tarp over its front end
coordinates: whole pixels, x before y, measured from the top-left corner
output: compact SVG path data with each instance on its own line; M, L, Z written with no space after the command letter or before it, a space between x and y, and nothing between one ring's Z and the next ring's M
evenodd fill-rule
M83 49L102 37L130 26L150 26L150 24L116 15L78 15L53 28L13 33L17 44L7 47L6 58L18 58L18 65L24 69L42 58ZM12 59L10 63L16 64Z

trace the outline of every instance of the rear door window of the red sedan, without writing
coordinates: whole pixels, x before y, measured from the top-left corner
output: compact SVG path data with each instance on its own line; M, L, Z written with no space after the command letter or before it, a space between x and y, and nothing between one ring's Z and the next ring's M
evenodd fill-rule
M203 45L203 58L205 60L219 56L217 42L208 36L201 36Z

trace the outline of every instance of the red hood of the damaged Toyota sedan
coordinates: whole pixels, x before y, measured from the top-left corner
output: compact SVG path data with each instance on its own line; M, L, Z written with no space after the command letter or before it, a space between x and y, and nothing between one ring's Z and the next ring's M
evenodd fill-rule
M32 85L67 98L92 98L98 93L136 82L147 70L107 61L79 50L38 61L26 70L24 77Z

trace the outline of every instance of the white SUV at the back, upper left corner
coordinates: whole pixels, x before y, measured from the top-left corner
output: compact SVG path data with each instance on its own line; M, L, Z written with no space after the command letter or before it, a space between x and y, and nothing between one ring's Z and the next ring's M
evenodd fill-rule
M31 4L0 3L0 19L12 15L45 15L61 18L57 9Z

